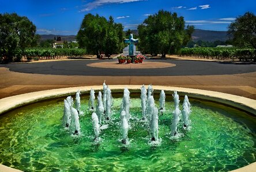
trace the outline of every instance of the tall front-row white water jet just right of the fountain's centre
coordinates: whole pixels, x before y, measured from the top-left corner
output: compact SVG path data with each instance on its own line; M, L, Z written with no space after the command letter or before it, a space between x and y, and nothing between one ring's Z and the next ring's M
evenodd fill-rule
M158 110L156 107L153 108L152 111L152 118L149 124L150 131L151 131L151 140L157 141L158 140Z

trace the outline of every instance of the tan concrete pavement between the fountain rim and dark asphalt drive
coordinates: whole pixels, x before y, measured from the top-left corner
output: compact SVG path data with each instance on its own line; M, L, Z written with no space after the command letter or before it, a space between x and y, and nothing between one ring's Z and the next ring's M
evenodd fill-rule
M173 68L173 67L172 67ZM256 72L202 76L65 76L11 72L0 68L0 98L54 88L102 85L163 85L205 89L256 100Z

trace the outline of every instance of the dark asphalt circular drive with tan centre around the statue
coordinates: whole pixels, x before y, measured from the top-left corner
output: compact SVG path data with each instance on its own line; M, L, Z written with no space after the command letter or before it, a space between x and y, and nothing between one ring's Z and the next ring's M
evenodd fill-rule
M108 68L89 67L95 63L104 62ZM79 75L79 76L193 76L193 75L231 75L256 72L256 64L239 64L231 62L209 62L191 60L145 60L142 64L134 64L138 68L111 68L127 64L117 64L117 60L72 60L48 61L27 64L7 64L0 67L22 73L38 73L47 75ZM148 63L154 68L141 69ZM164 64L174 67L162 68ZM109 64L108 64L109 63ZM140 68L141 67L141 68Z

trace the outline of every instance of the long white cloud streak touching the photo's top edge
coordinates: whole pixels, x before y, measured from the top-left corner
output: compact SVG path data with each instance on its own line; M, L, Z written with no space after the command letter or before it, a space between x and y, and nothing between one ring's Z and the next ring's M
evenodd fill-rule
M85 5L85 8L80 10L80 12L90 11L90 10L96 9L99 6L106 5L109 3L128 3L128 2L136 2L136 1L146 1L146 0L95 0L87 3Z

